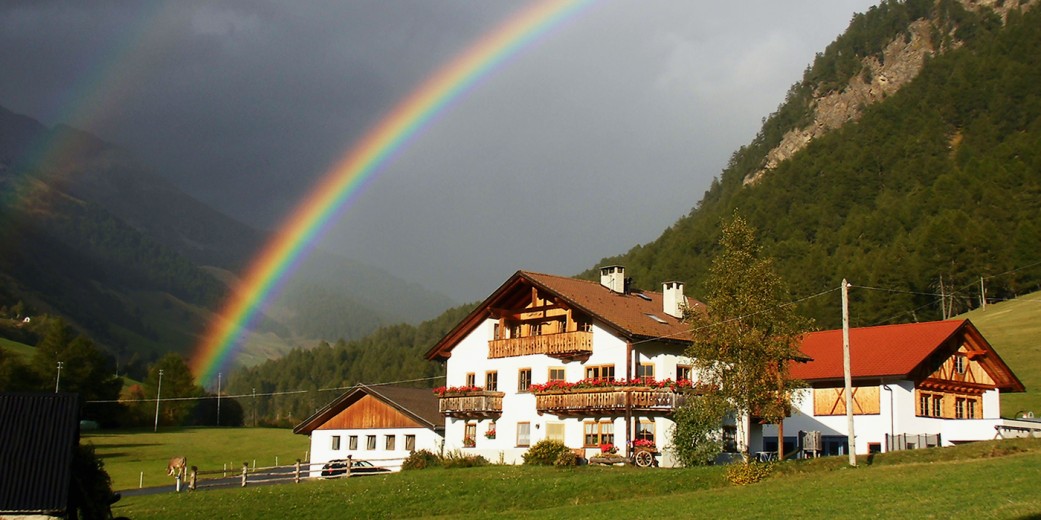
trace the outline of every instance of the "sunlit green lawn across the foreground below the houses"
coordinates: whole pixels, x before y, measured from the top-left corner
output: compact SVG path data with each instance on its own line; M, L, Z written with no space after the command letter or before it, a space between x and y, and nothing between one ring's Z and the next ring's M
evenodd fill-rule
M127 497L113 513L192 518L1022 518L1041 515L1041 439L723 468L489 466Z

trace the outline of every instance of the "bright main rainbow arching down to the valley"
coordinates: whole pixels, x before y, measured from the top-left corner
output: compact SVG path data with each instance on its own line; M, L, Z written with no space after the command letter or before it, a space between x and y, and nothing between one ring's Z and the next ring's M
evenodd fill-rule
M430 76L362 136L296 207L247 268L242 283L196 346L191 367L199 383L209 384L227 365L280 281L396 151L481 78L591 3L544 0L520 10Z

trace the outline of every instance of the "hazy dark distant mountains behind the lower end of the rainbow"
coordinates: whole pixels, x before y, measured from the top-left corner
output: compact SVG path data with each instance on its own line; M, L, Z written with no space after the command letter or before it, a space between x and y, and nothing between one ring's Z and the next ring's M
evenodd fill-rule
M188 353L226 284L266 239L152 175L129 153L0 107L0 283L117 354ZM448 297L365 264L313 252L248 336L262 361L320 339L418 322Z

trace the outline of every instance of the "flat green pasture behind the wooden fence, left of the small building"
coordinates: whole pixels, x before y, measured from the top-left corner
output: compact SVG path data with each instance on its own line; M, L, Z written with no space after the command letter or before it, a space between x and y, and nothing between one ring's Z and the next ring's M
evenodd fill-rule
M84 432L82 443L94 444L112 478L112 489L134 489L144 473L144 486L172 486L167 462L184 456L200 471L227 464L232 472L244 462L258 467L306 460L309 439L289 430L265 427L160 428L134 432Z

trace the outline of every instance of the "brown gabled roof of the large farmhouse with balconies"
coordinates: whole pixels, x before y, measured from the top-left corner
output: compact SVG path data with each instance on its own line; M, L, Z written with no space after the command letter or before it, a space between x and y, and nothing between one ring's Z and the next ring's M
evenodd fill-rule
M531 287L562 298L573 309L604 322L631 340L656 338L681 344L690 342L690 328L663 312L660 292L620 294L596 282L518 270L427 350L427 359L447 358L456 343L490 315L492 308L509 307L510 303L528 297ZM702 305L693 298L686 300L689 308Z

